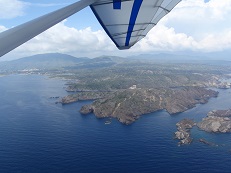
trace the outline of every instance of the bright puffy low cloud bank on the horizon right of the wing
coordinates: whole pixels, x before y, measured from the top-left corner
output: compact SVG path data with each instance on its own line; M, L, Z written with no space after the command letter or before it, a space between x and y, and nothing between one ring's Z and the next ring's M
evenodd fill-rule
M207 34L196 40L185 33L176 33L174 28L158 25L138 42L131 52L152 51L200 51L214 52L231 49L231 28L217 34Z

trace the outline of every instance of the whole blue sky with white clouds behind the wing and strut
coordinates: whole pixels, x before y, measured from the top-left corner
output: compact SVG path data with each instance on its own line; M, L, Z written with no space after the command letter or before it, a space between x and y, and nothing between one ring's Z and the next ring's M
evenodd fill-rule
M0 0L0 32L76 0ZM0 58L41 53L76 57L231 50L231 0L182 0L129 50L118 50L88 7Z

